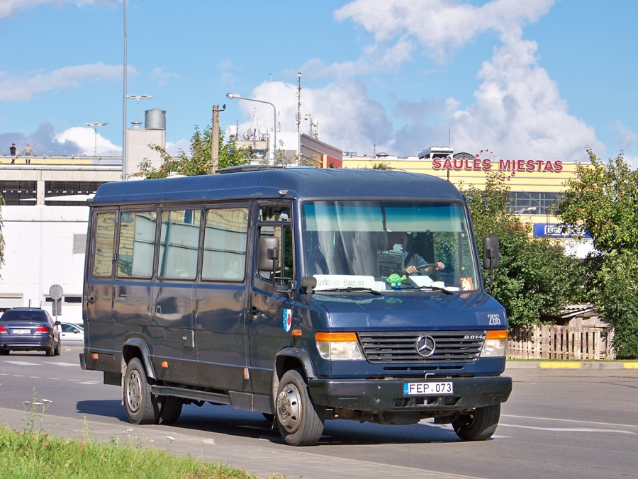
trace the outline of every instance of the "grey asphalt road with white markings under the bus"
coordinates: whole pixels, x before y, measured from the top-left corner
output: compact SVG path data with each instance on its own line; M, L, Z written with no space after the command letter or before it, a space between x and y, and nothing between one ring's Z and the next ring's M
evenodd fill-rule
M61 356L0 356L0 420L14 429L168 449L289 478L627 478L638 468L638 369L510 364L513 394L489 441L462 442L431 420L410 426L326 422L318 446L286 446L261 414L184 407L172 427L130 424L121 390ZM33 402L51 401L33 414ZM25 404L25 402L28 402Z

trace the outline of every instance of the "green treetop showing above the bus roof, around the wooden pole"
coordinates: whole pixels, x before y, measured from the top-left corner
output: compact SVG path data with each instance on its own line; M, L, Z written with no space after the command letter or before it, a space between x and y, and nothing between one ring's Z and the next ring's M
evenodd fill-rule
M171 174L184 176L196 176L213 173L213 159L211 157L211 129L201 133L195 127L195 133L191 137L191 156L179 150L176 157L172 157L159 145L149 145L152 150L159 152L162 158L162 166L153 167L149 160L140 163L140 171L133 176L143 176L147 179L166 178ZM250 159L250 150L237 147L235 140L230 139L224 142L223 133L219 135L219 163L218 168L235 167L240 164L247 164Z

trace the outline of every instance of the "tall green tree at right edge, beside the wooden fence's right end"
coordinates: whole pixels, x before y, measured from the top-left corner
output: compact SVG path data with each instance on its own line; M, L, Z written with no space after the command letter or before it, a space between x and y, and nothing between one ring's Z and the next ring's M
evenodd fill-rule
M638 171L620 153L607 164L587 150L556 207L565 230L589 232L593 301L614 329L619 359L638 359Z

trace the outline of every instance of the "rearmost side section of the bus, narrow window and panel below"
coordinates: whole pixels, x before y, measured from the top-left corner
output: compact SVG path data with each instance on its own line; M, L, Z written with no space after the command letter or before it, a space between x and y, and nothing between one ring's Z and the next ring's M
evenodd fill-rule
M85 346L91 349L113 351L113 259L117 211L91 211L84 271L84 340Z

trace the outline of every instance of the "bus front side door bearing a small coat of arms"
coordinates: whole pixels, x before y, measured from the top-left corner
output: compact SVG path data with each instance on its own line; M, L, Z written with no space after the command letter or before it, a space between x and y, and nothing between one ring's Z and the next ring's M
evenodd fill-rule
M294 299L283 291L293 274L293 237L289 203L259 204L255 239L255 271L248 307L250 374L253 392L272 397L272 371L276 354L293 345L291 333ZM257 263L259 238L279 239L279 258L275 271L260 271ZM274 278L273 278L274 277Z

